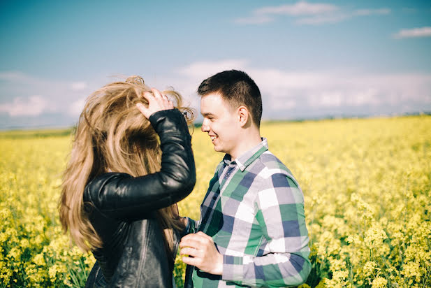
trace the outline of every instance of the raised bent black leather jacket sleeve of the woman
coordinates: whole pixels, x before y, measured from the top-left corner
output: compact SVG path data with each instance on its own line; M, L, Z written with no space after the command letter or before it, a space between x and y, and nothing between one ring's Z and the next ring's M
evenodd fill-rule
M161 171L132 177L105 173L88 183L84 199L115 219L144 219L190 194L196 182L191 136L182 113L161 110L149 117L161 143Z

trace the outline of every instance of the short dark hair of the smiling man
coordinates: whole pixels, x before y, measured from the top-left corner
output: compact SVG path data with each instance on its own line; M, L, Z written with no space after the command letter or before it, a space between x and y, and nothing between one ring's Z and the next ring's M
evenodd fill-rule
M262 97L256 83L247 73L238 70L229 70L212 75L200 83L198 94L205 96L219 93L236 109L245 106L249 109L251 119L257 127L261 126Z

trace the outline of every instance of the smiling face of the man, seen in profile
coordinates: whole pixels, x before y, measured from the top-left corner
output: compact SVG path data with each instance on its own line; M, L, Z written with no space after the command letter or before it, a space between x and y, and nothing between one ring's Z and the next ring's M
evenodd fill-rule
M200 99L200 113L203 115L201 129L210 136L214 150L232 154L240 129L235 111L220 94L212 93Z

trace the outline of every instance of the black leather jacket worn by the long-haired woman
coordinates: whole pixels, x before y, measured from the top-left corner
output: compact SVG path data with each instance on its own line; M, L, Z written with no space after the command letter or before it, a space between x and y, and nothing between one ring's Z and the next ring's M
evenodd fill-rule
M161 171L137 178L105 173L85 187L89 219L103 241L92 251L97 261L86 287L173 286L175 256L166 254L155 211L184 199L195 185L191 136L177 109L149 121L160 137Z

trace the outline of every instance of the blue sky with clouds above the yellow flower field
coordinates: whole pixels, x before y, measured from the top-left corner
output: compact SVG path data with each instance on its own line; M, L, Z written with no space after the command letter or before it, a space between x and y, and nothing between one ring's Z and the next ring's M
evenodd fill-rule
M68 127L121 75L254 78L263 119L431 111L429 1L1 1L0 129Z

